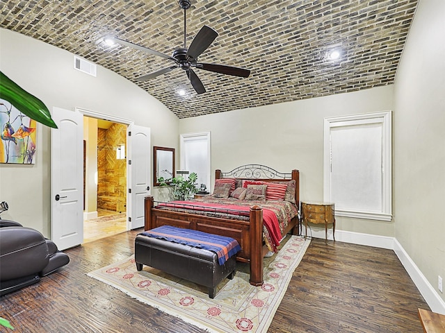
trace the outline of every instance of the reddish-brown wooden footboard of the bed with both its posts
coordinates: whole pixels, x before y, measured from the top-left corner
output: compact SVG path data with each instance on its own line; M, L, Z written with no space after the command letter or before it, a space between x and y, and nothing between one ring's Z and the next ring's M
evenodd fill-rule
M209 234L232 237L241 251L236 259L250 264L250 284L263 284L263 212L260 207L250 207L250 221L175 212L154 207L154 198L145 197L145 230L161 225L200 230Z

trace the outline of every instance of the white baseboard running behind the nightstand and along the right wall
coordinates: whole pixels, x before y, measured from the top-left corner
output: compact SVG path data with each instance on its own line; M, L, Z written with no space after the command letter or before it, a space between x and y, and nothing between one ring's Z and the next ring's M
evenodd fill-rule
M302 227L302 234L305 234L305 226ZM323 228L307 228L307 235L314 238L325 238L325 230ZM333 240L332 228L327 230L327 239ZM375 234L362 234L359 232L350 232L343 230L335 230L335 240L343 241L345 243L373 246L375 248L387 248L394 250L398 259L405 267L412 282L419 289L423 298L425 298L428 306L433 312L445 314L445 302L439 296L439 293L432 287L430 282L425 278L425 275L420 271L419 267L412 261L410 256L403 249L401 244L394 237L378 236Z

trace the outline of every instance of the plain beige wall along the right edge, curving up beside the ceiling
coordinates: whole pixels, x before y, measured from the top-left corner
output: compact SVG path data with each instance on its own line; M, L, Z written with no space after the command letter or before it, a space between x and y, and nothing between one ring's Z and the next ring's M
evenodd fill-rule
M445 1L421 0L394 89L396 239L442 300L437 275L445 279L444 41Z

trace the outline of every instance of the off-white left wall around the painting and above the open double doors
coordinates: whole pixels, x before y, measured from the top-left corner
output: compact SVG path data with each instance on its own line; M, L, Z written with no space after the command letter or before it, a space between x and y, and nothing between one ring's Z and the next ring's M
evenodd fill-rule
M53 107L83 108L132 119L151 128L152 145L177 148L179 119L143 89L113 71L97 67L97 77L73 68L74 55L19 33L0 29L0 69L26 91ZM50 236L49 128L38 124L35 165L0 164L0 200L14 219ZM152 147L147 147L152 151Z

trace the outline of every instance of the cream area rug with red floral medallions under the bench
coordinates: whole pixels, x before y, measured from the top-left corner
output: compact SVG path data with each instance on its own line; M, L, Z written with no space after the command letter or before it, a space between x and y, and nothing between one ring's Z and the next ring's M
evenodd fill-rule
M213 300L207 288L149 266L138 272L133 256L88 275L207 332L266 332L309 242L287 237L265 262L261 287L250 285L247 264L237 263L235 278L221 282Z

